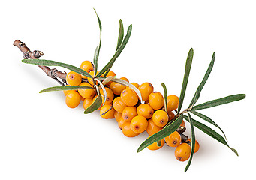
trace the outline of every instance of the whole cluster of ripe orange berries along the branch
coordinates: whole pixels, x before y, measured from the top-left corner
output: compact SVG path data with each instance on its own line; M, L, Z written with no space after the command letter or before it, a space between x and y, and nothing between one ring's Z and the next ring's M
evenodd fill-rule
M94 65L92 62L84 61L80 68L89 73L92 77L95 75ZM116 77L113 71L109 71L106 77ZM121 77L129 83L128 79ZM85 77L74 71L66 76L67 86L89 86L97 84L92 78ZM99 94L102 99L106 99L101 104L100 115L102 118L115 118L118 122L122 133L128 137L134 137L146 131L149 136L163 129L168 122L175 117L175 111L178 108L179 98L176 95L167 96L167 110L164 110L164 97L160 92L154 92L151 83L131 83L141 94L142 100L138 97L134 89L124 86L116 82L108 82L105 84L107 98L104 97L104 91L100 88ZM64 91L66 96L66 104L68 107L74 108L83 101L83 107L86 110L97 98L94 89L78 89ZM141 102L144 102L143 104ZM185 127L182 121L181 127ZM169 136L154 142L147 148L149 150L157 150L162 148L166 143L170 147L175 147L175 157L179 161L188 160L191 152L191 139L182 139L183 132L174 131ZM183 136L184 137L184 136ZM186 136L185 136L186 137ZM196 141L194 153L199 149L199 143Z

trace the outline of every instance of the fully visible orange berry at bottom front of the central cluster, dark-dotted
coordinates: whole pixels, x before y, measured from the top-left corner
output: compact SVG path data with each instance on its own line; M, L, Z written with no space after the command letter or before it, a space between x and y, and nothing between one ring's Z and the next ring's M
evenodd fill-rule
M131 130L134 133L143 133L148 127L148 121L142 115L137 115L131 120Z

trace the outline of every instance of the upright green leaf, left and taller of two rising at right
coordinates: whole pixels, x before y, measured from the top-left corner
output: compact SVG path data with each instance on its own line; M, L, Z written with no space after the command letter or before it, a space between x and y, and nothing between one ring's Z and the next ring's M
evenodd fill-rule
M185 97L185 90L187 89L187 85L188 85L188 77L189 77L189 73L190 73L190 69L191 69L191 65L192 65L193 55L194 55L194 51L191 48L188 52L187 61L185 62L185 74L183 77L182 90L181 90L180 96L179 96L178 114L182 108L183 100Z

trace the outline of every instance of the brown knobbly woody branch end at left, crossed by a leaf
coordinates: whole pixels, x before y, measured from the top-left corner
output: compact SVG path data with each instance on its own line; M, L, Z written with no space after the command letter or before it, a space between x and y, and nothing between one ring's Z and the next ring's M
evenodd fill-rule
M17 46L21 52L23 52L23 58L32 58L32 59L38 59L42 55L44 55L43 52L35 50L33 52L30 51L29 47L26 46L25 43L21 42L20 40L15 40L14 41L14 46ZM50 69L47 66L41 66L38 65L39 68L41 68L49 77L53 78L56 80L60 85L65 86L65 81L66 81L66 73L63 73L61 71L56 70L56 68ZM62 83L59 79L62 80Z

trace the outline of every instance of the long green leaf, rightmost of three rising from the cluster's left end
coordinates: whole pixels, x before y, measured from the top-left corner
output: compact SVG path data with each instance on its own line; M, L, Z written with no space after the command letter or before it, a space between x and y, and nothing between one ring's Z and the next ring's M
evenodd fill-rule
M114 62L116 61L116 58L119 57L122 50L125 48L126 44L128 43L129 38L131 37L131 30L132 25L128 27L127 34L125 35L125 39L122 41L121 46L119 46L119 49L116 50L116 53L113 55L113 57L110 59L110 62L107 63L107 65L104 66L104 68L101 69L101 71L96 75L96 77L100 77L104 72L109 71Z

